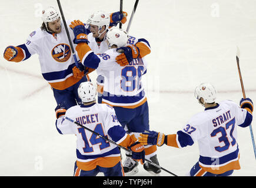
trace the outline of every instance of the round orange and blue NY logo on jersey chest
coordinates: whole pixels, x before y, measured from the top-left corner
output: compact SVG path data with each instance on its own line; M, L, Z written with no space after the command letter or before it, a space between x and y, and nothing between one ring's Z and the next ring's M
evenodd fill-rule
M58 62L66 62L71 56L71 48L67 43L60 43L52 49L52 58Z

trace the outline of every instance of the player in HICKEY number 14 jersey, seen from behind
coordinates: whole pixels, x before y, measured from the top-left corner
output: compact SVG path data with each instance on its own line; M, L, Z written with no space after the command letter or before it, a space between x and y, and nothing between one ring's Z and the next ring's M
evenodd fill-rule
M96 103L96 87L91 82L82 82L78 88L78 95L82 105L72 106L68 110L62 105L56 108L58 132L77 136L74 176L97 176L99 172L104 173L105 176L124 176L124 170L121 153L116 145L70 122L65 117L113 140L118 145L131 149L132 158L143 164L144 147L136 142L134 135L127 135L111 106Z

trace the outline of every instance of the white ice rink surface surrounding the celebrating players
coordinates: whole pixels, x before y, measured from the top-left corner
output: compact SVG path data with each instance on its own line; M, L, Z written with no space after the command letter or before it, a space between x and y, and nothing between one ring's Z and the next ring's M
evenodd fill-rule
M128 21L134 2L124 0ZM94 11L119 10L119 0L62 0L61 4L66 19L84 22ZM51 0L0 0L0 5L2 54L8 45L25 43L29 33L41 26L42 8L58 8ZM201 82L215 86L218 101L239 103L237 46L245 92L256 103L255 7L252 0L139 1L129 33L148 39L151 45L143 79L151 130L176 133L192 115L204 110L194 98L194 88ZM95 76L92 73L93 82ZM42 78L38 56L12 63L1 55L0 80L0 176L72 176L76 137L59 135L55 128L56 102ZM253 120L254 136L255 126ZM241 170L233 176L256 176L250 129L237 129ZM183 149L158 147L160 165L178 176L185 176L198 158L197 143ZM137 176L151 174L140 165ZM162 171L161 176L171 175Z

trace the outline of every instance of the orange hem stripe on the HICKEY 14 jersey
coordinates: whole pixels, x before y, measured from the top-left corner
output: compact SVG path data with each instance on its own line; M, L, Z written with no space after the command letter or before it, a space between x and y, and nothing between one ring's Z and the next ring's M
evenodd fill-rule
M79 162L77 160L77 166L79 169L82 170L93 170L95 167L101 166L101 167L113 167L115 166L119 161L121 160L121 157L99 157L97 159L91 160L89 162Z

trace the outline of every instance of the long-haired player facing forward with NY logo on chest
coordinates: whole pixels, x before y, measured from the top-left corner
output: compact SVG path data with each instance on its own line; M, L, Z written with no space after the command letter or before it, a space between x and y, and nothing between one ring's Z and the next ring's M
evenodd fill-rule
M67 33L58 11L52 6L46 8L42 12L42 20L41 28L31 32L26 43L6 47L4 58L9 62L22 62L38 54L42 76L51 85L56 103L65 101L69 108L81 103L77 88L79 83L89 80L88 70L80 71L75 66ZM115 21L118 22L118 19ZM67 21L67 24L70 23ZM68 29L71 39L74 39L74 33L71 28ZM89 31L85 29L85 32ZM73 45L75 47L77 44ZM77 55L76 57L79 60Z

